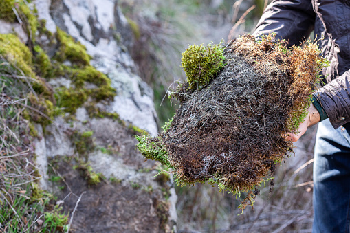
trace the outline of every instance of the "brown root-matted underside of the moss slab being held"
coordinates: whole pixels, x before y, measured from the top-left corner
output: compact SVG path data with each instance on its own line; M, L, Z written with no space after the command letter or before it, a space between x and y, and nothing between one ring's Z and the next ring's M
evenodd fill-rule
M180 85L171 95L180 102L174 118L157 137L137 136L138 148L173 168L178 184L248 192L241 208L252 206L256 188L293 151L283 135L296 133L306 116L327 65L319 54L316 43L287 48L274 36L231 41L217 77L201 89Z

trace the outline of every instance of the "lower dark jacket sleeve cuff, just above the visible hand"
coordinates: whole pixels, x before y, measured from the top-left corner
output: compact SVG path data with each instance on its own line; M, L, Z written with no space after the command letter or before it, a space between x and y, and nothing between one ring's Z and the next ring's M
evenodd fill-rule
M314 93L334 129L350 122L350 70ZM320 111L320 109L318 109ZM321 114L321 112L320 112Z

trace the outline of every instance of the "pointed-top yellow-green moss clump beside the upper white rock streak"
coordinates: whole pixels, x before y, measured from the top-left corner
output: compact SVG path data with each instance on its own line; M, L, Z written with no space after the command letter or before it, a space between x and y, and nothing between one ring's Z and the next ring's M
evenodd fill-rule
M74 41L72 36L69 36L63 30L57 28L57 40L61 43L56 60L64 62L69 60L76 65L89 65L91 56L87 54L86 48L80 42Z

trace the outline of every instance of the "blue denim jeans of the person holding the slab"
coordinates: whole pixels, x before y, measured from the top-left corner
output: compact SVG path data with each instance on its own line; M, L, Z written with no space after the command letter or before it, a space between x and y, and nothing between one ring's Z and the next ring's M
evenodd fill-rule
M318 124L314 155L314 233L350 232L350 124Z

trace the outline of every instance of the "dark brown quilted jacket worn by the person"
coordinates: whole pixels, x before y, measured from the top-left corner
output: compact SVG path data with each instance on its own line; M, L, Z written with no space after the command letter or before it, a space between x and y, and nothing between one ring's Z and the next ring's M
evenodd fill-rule
M317 38L324 38L318 44L330 62L323 70L327 85L314 96L337 129L350 122L350 0L274 0L254 36L276 32L294 45L312 30Z

